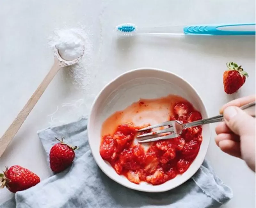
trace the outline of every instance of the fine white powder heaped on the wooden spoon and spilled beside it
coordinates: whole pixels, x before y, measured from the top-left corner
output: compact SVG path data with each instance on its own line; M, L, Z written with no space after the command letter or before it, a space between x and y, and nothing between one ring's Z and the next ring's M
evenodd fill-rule
M87 91L92 76L92 44L88 32L82 28L56 29L49 37L49 44L53 51L56 46L65 60L76 59L84 50L77 64L65 67L64 76L76 89Z

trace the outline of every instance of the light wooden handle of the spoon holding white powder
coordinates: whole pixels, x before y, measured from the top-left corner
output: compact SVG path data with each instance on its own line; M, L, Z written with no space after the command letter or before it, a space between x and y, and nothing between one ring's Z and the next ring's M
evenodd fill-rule
M34 94L28 100L27 104L20 111L18 116L14 119L12 124L6 130L6 132L4 132L4 135L0 139L0 157L3 155L5 149L7 148L7 146L9 145L9 143L11 142L15 134L18 132L18 130L20 129L20 126L24 123L24 121L28 117L28 114L34 108L37 101L40 99L41 95L44 93L45 89L50 84L53 77L57 74L60 68L61 68L60 63L58 62L58 60L55 59L51 70L46 75L43 82L38 86Z

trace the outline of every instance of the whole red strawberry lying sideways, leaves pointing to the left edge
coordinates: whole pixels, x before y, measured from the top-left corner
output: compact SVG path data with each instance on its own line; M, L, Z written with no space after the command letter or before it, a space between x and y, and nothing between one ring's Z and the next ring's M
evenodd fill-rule
M0 173L1 187L8 188L12 193L23 191L40 182L40 178L30 170L19 165L13 165L3 173Z

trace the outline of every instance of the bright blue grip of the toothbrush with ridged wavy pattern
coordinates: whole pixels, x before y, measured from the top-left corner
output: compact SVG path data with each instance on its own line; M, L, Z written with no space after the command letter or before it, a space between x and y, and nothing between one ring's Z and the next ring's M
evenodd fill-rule
M184 27L183 32L185 35L255 35L255 23L233 25L192 25Z

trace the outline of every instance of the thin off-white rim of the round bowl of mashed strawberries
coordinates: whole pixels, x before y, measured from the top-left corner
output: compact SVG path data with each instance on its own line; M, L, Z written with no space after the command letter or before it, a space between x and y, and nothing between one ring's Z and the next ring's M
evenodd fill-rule
M91 109L90 109L90 113L89 113L89 116L88 116L88 122L87 122L87 135L88 135L89 147L90 147L90 150L91 150L91 153L92 153L92 156L93 156L94 161L95 161L96 164L99 166L100 170L101 170L105 175L107 175L110 179L114 180L115 182L119 183L120 185L122 185L122 186L124 186L124 187L126 187L126 188L130 188L130 189L133 189L133 190L137 190L137 191L141 191L141 192L148 192L148 193L160 193L160 192L169 191L169 190L171 190L171 189L173 189L173 188L176 188L176 187L182 185L183 183L185 183L186 181L188 181L188 180L200 169L200 166L201 166L201 165L203 164L203 162L204 162L205 156L206 156L206 154L207 154L207 151L208 151L208 148L209 148L209 145L210 145L210 140L211 140L211 136L212 136L212 132L211 132L211 129L210 129L210 128L209 128L209 137L210 137L210 139L209 139L208 144L207 144L207 147L206 147L206 149L205 149L205 154L204 154L204 156L200 159L200 161L198 162L198 164L200 164L200 166L199 166L197 169L195 169L194 171L191 171L191 173L189 174L189 176L188 176L188 178L187 178L186 180L183 180L181 183L177 184L176 186L173 186L172 188L165 188L165 189L163 188L162 190L147 190L147 191L146 191L146 190L144 190L144 189L139 188L139 186L138 186L138 188L129 187L129 186L126 186L125 184L123 184L122 182L117 181L117 180L115 179L115 177L112 176L111 174L108 174L108 172L107 172L106 170L104 170L104 168L101 166L100 162L97 161L97 159L96 159L96 157L94 156L94 153L93 153L93 151L92 151L92 145L91 145L91 142L90 142L90 129L91 129L90 123L91 123L92 111L93 111L93 108L94 108L94 106L95 106L95 103L97 102L97 100L98 100L98 98L100 97L100 95L102 94L102 92L103 92L110 84L112 84L112 83L115 82L117 79L121 78L122 76L125 76L126 74L130 74L130 73L132 73L132 72L134 72L134 71L145 71L145 70L153 70L153 71L156 71L156 72L169 73L169 74L172 74L172 75L174 75L174 76L180 78L182 81L184 81L185 83L187 83L187 84L189 85L189 87L191 87L191 89L192 89L194 92L196 92L196 94L197 94L199 100L200 100L200 101L202 102L202 104L203 104L203 108L204 108L206 117L209 117L207 108L205 107L205 104L204 104L204 102L203 102L203 100L202 100L200 94L196 91L196 89L195 89L187 80L185 80L185 79L182 78L181 76L179 76L179 75L177 75L177 74L175 74L175 73L173 73L173 72L167 71L167 70L163 70L163 69L159 69L159 68L151 68L151 67L140 67L140 68L131 69L131 70L129 70L129 71L126 71L126 72L120 74L119 76L116 76L116 78L110 80L110 81L100 90L100 92L97 94L97 96L95 97L95 99L94 99L93 102L92 102L92 106L91 106ZM135 79L136 79L136 77L135 77ZM132 182L131 182L131 183L132 183Z

